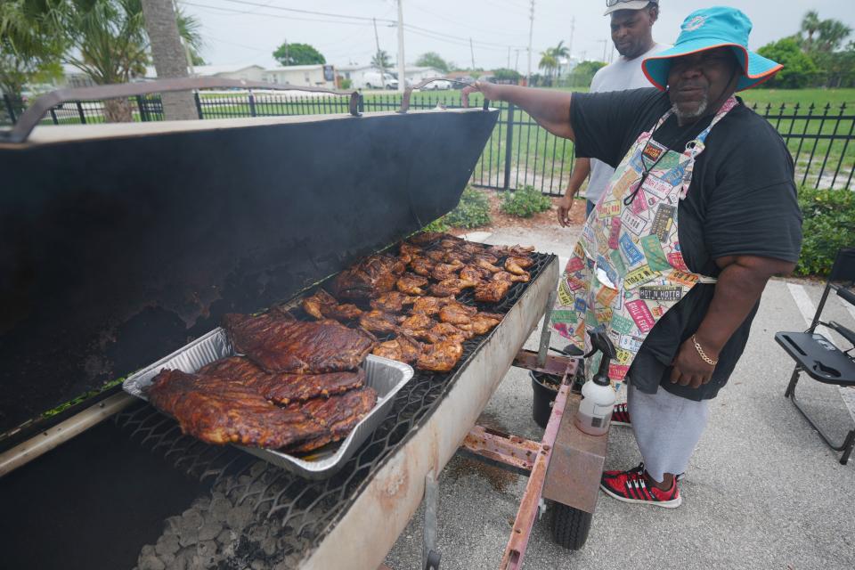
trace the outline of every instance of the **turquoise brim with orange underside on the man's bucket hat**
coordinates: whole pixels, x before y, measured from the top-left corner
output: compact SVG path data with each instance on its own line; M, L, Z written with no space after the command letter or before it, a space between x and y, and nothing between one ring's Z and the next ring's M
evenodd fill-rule
M647 81L652 83L660 91L665 91L668 85L668 73L671 70L671 60L675 57L689 55L690 53L705 52L717 47L729 47L737 56L742 66L743 75L739 77L737 91L751 89L773 77L784 68L777 61L771 61L759 53L754 53L739 44L716 44L709 39L698 38L693 41L674 45L664 52L656 53L641 62L641 70L644 71Z

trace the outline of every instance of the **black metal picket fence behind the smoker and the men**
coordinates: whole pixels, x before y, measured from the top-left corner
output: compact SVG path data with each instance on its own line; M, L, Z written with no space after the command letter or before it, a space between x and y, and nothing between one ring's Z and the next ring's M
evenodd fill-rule
M346 98L328 94L294 96L268 92L199 92L194 94L199 118L276 117L346 113ZM478 102L473 102L478 104ZM397 110L400 94L366 94L362 111ZM158 95L128 99L135 121L163 120ZM411 109L460 107L457 92L413 94ZM532 186L544 194L562 195L574 165L574 143L548 133L514 105L493 103L499 121L472 175L476 186L517 190ZM0 123L14 123L24 105L4 95ZM814 188L853 189L855 175L855 114L846 103L832 107L801 103L767 104L753 110L769 120L793 155L796 183ZM70 102L50 110L44 124L102 123L103 102Z

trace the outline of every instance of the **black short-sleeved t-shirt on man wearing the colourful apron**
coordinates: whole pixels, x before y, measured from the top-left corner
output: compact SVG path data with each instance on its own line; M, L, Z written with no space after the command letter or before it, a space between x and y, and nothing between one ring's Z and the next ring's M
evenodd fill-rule
M639 134L652 129L670 108L668 94L652 88L574 93L570 122L576 156L617 167ZM711 122L712 116L694 126L679 126L672 115L653 138L682 151ZM798 261L802 215L796 201L793 159L778 132L739 104L712 127L704 145L678 210L680 248L688 268L715 277L720 270L714 259L722 256ZM696 285L656 323L630 368L633 386L649 394L661 386L691 400L718 394L745 349L759 302L721 350L708 384L693 389L670 380L670 363L683 341L700 326L714 290L713 284Z

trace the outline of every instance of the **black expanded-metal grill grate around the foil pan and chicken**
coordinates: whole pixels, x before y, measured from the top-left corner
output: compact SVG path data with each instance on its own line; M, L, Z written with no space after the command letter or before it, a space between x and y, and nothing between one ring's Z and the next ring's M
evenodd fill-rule
M534 281L555 256L531 255L534 264L528 271ZM506 314L527 287L528 283L515 283L500 303L479 308ZM458 299L477 305L471 294ZM302 556L314 550L329 533L331 523L344 516L360 487L435 408L457 379L460 367L488 336L466 341L463 356L448 373L417 370L395 398L387 419L338 474L322 481L303 479L232 447L203 444L183 436L173 419L167 419L148 404L118 414L117 422L131 432L132 439L162 453L175 468L200 479L213 477L214 492L224 494L235 507L251 505L256 524L275 527L280 548L284 549L276 553L272 562L282 556Z

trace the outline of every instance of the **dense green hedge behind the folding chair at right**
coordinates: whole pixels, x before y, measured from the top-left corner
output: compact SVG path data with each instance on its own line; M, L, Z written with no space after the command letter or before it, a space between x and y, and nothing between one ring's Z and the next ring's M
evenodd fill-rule
M802 188L799 207L804 237L794 273L827 275L837 250L855 246L855 192Z

